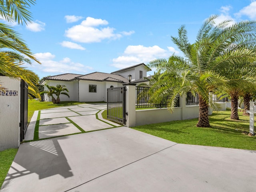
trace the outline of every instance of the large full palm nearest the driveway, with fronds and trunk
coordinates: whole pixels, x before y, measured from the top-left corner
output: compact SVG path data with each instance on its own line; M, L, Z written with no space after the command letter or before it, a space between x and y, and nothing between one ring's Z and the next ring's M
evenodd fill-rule
M239 63L242 58L256 58L256 53L246 47L246 44L255 44L256 21L230 26L231 20L215 24L216 18L218 16L214 15L205 20L194 44L188 41L184 26L178 29L178 37L172 37L172 41L184 57L172 55L168 60L157 59L149 63L150 67L163 72L162 81L152 88L152 99L170 94L168 104L174 110L176 94L198 93L198 127L209 127L208 107L217 108L209 99L209 93L229 81L220 70Z

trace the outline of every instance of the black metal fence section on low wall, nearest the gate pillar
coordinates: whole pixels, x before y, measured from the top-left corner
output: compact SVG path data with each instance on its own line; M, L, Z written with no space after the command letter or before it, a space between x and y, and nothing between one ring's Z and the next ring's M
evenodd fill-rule
M149 87L136 86L136 108L166 108L168 97L164 98L160 103L150 102ZM180 106L180 97L178 97L175 107Z

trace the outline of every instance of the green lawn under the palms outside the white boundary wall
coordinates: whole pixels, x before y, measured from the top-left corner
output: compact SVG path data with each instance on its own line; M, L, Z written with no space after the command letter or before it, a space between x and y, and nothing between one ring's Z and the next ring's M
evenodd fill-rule
M238 113L240 120L231 120L230 109L214 112L210 116L210 128L196 127L198 119L133 128L177 143L256 150L256 137L242 134L244 131L249 132L249 116Z

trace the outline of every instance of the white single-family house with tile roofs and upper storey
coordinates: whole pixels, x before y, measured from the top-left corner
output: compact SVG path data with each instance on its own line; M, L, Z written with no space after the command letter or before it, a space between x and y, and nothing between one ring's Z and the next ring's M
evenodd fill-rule
M128 83L128 76L131 77L131 83L145 82L147 80L144 80L143 77L146 77L150 70L148 66L141 63L112 73L94 72L86 75L66 73L49 76L43 78L40 84L65 85L69 90L70 98L60 95L61 101L106 102L107 88L120 87L122 84ZM46 86L44 86L44 90L47 90ZM45 101L51 100L47 94L44 95L44 98Z

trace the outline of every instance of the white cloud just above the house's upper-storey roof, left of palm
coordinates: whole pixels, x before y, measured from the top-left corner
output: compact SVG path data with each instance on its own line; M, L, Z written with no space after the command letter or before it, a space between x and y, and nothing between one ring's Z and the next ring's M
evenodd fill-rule
M116 68L126 68L140 63L146 64L156 58L167 58L174 51L175 49L172 47L168 47L168 50L164 50L157 45L152 47L145 47L143 45L129 45L124 50L122 56L112 60L113 63L111 66ZM175 52L177 53L177 51Z

